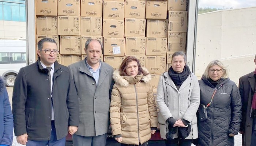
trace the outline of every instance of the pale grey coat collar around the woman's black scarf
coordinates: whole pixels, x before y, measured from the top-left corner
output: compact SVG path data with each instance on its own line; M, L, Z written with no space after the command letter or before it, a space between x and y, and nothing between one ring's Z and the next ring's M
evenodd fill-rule
M189 85L192 82L192 75L193 75L193 73L190 72L190 75L188 76L188 78L181 84L180 89L177 90L177 87L174 84L172 78L169 76L168 72L163 73L163 76L166 78L166 80L165 80L166 84L170 85L177 91L181 91L183 88L187 87L187 85Z

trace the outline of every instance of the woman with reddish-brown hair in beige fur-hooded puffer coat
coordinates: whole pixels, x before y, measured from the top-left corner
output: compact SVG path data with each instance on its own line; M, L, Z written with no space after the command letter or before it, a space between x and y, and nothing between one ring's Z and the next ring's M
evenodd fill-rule
M121 146L147 146L157 130L157 106L151 74L133 56L125 58L113 74L110 103L112 134Z

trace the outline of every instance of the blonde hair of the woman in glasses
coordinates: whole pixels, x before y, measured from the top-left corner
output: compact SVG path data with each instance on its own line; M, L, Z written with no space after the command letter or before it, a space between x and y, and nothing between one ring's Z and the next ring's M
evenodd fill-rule
M219 60L211 61L211 62L207 65L207 67L206 67L206 69L205 69L205 71L204 71L204 74L203 74L203 77L204 77L204 78L210 78L210 77L209 77L209 69L210 69L212 66L214 66L214 65L218 65L219 67L222 68L222 72L223 72L222 78L229 78L229 72L228 72L228 70L227 70L227 67L226 67L221 61L219 61Z

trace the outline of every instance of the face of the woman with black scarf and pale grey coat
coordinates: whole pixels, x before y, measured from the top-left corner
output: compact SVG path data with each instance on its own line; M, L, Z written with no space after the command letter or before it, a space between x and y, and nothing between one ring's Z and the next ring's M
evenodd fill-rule
M184 69L186 62L182 55L174 56L172 59L172 68L175 72L181 73Z

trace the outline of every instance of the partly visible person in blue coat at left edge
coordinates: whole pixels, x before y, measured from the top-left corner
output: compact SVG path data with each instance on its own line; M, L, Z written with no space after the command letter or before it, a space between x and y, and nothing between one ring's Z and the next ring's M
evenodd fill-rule
M11 105L4 80L0 77L0 146L11 146L13 138L13 118Z

